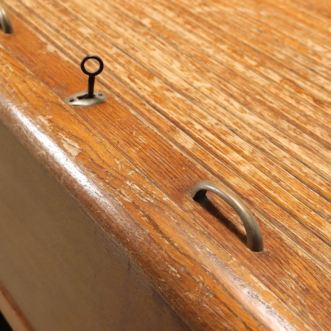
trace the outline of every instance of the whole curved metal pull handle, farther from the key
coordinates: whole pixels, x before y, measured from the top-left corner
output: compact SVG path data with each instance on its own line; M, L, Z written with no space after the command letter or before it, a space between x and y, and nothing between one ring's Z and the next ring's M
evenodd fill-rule
M263 249L263 240L259 224L244 205L244 203L226 187L211 180L203 180L196 184L191 192L192 199L199 198L207 191L216 193L221 199L226 201L238 214L244 223L247 235L247 247L254 252L260 252Z

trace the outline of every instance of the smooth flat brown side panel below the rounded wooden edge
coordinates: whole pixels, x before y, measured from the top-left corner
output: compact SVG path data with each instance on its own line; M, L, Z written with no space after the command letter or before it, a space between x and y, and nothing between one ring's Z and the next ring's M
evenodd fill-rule
M0 282L37 331L189 329L2 123Z

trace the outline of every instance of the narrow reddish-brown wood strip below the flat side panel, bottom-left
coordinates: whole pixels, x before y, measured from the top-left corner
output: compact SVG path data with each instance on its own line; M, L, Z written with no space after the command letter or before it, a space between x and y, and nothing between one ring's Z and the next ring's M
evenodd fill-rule
M33 331L19 307L0 284L0 311L13 331Z

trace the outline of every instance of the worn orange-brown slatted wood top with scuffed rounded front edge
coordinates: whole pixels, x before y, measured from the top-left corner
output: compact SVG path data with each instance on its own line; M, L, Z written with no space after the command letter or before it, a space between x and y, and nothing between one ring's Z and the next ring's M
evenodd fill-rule
M328 1L5 0L2 121L195 330L329 330ZM105 103L71 108L87 54ZM215 180L255 215L190 190Z

